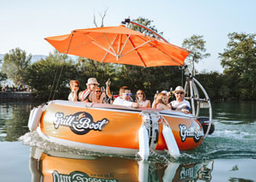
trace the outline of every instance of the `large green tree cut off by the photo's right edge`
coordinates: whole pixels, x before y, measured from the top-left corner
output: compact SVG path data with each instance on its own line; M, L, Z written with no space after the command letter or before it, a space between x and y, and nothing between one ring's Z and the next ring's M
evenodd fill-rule
M229 43L221 58L224 74L233 78L240 99L256 99L256 34L229 33Z

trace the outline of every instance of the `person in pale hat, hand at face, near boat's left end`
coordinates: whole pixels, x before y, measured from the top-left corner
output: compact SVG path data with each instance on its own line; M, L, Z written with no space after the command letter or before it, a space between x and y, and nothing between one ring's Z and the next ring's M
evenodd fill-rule
M86 85L87 89L85 91L82 91L81 94L79 94L80 101L87 103L96 103L97 98L94 91L96 87L100 84L97 82L97 79L89 78Z

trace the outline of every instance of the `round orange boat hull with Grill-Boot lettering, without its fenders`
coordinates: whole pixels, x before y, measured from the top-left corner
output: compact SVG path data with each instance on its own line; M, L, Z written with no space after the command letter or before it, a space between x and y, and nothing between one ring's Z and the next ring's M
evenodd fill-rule
M66 104L67 103L67 104ZM61 144L103 153L135 154L139 150L138 130L143 125L142 111L159 112L168 121L179 150L192 150L203 142L202 126L190 114L155 109L125 109L107 104L56 102L49 104L40 120L40 132ZM168 150L158 120L150 148ZM39 130L38 130L39 131ZM157 136L156 136L157 135ZM154 141L150 141L154 140ZM77 144L77 146L76 146ZM118 151L119 150L119 151ZM126 152L125 152L126 151Z

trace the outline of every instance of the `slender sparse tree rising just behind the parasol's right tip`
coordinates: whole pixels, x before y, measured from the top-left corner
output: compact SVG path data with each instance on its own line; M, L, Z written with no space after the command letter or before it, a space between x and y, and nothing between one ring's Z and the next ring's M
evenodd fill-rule
M192 74L195 75L194 63L210 56L210 53L205 53L206 49L203 35L192 35L191 38L185 38L182 47L191 51L191 54L186 57L187 65L192 68Z

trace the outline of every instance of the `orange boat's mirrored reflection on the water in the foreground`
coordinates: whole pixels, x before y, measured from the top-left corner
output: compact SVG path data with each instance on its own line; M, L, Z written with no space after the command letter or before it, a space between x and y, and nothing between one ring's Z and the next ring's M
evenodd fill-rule
M32 181L187 181L211 179L213 161L182 164L115 156L78 156L31 148Z

